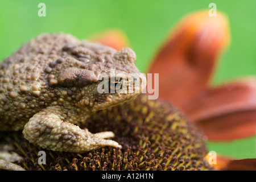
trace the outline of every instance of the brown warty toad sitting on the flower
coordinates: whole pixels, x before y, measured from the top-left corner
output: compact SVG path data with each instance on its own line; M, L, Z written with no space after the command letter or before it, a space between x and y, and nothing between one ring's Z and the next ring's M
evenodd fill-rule
M23 130L31 143L53 151L121 148L105 139L114 137L111 131L92 134L79 126L94 111L141 92L146 78L135 59L130 48L117 51L71 35L39 35L1 64L0 130Z

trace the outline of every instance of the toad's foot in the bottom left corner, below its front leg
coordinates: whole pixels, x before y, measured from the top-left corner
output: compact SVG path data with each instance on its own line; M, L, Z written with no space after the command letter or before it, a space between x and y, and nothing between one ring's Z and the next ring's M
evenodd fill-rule
M9 152L8 150L11 150L10 146L0 146L0 169L10 171L25 171L24 168L13 163L22 160L23 158L15 152Z

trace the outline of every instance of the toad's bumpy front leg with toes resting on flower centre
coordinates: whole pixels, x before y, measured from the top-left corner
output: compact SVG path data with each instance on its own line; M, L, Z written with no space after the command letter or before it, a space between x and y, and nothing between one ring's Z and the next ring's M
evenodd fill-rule
M35 114L24 126L24 138L33 144L53 151L83 153L104 146L121 146L113 140L111 131L92 134L87 129L65 122L61 107L47 107Z

